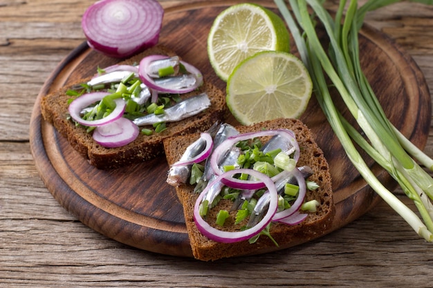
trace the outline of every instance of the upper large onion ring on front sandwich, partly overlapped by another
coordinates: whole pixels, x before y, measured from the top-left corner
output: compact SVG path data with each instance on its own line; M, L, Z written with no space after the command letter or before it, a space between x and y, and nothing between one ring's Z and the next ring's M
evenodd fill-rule
M275 129L275 130L268 130L268 131L259 131L259 132L252 132L252 133L244 133L240 135L234 135L232 137L228 137L227 140L225 140L223 143L219 144L214 149L214 152L212 153L210 157L210 165L212 166L212 169L214 170L214 173L216 175L221 175L223 171L219 169L219 162L221 162L221 159L224 157L225 153L232 148L237 142L244 141L244 140L250 140L256 137L265 137L265 136L273 136L273 135L282 135L282 137L286 138L289 142L291 142L291 145L295 147L295 155L294 159L297 162L300 157L300 148L299 144L297 144L296 137L293 134L292 131L287 129ZM279 175L274 176L272 179L275 182ZM232 185L237 186L237 189L261 189L263 188L263 183L260 181L245 181L245 180L237 180L234 178L227 178L224 180L225 183L232 182Z

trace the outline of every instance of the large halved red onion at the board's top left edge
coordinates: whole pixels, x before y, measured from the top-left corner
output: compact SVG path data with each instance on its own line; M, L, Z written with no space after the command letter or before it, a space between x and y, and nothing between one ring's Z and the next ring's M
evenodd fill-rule
M129 57L155 46L164 10L156 0L100 0L82 17L91 48L109 57Z

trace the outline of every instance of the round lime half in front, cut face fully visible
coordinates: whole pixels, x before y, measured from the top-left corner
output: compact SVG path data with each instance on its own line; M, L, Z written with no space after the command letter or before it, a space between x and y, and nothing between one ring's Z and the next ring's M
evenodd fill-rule
M227 84L227 106L243 125L276 118L298 118L313 85L304 64L287 52L264 51L234 68Z

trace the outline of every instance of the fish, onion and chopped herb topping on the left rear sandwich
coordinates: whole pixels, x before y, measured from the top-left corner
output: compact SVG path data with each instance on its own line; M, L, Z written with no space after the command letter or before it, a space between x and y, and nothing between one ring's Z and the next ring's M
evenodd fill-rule
M98 144L125 146L141 132L164 131L165 123L201 113L210 106L207 94L181 99L203 84L201 72L178 57L151 55L138 65L114 65L99 70L77 90L68 113L93 133Z

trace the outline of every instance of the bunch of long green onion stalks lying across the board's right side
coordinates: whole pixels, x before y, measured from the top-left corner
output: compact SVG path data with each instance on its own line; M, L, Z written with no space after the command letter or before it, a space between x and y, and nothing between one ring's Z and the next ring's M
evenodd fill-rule
M432 242L433 205L430 200L433 200L433 178L418 162L428 169L433 169L433 160L389 122L360 66L358 33L366 13L396 0L369 0L360 8L356 0L351 0L345 12L347 1L342 0L335 19L323 7L322 1L288 2L295 17L292 17L284 0L275 0L311 75L317 101L344 151L371 188L401 215L419 236ZM308 6L313 10L313 15L308 13ZM315 19L322 23L328 35L328 52L315 32ZM369 141L362 137L336 108L326 76L338 90L347 109ZM407 197L414 201L422 220L380 183L353 142L396 180Z

